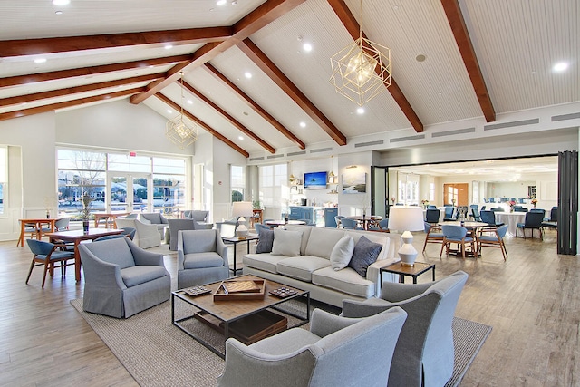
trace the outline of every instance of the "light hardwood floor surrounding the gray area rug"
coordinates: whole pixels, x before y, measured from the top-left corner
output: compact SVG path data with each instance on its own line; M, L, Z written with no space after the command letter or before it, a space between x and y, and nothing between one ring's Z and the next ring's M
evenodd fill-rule
M415 234L420 251L423 235ZM32 255L15 245L0 242L0 385L137 385L69 304L82 297L72 268L63 280L57 271L44 289L36 268L24 285ZM238 248L239 257L246 247ZM430 244L418 260L435 263L437 278L469 274L456 315L493 326L461 386L580 384L580 269L577 256L556 255L555 231L544 241L507 238L506 263L497 248L477 260L440 258L439 251ZM172 275L175 259L165 259Z

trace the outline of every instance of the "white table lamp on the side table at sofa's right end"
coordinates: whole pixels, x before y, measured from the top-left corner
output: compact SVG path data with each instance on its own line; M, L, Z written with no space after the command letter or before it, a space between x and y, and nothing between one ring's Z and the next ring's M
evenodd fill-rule
M389 210L389 229L402 231L402 246L398 252L399 257L401 257L401 265L413 266L417 258L417 250L412 245L413 236L411 231L425 229L423 208L419 206L391 206Z

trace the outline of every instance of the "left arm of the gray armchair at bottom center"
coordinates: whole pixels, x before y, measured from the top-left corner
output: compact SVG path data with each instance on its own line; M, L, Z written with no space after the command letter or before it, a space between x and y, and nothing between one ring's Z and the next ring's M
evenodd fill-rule
M218 378L219 387L256 387L265 381L276 387L305 386L314 368L314 356L307 347L292 353L271 355L229 338L226 366Z

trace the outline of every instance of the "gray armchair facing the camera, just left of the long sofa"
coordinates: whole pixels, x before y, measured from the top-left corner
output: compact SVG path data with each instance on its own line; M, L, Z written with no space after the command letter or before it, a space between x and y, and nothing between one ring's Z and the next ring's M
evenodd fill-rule
M228 276L227 246L218 230L178 232L178 289L220 281Z

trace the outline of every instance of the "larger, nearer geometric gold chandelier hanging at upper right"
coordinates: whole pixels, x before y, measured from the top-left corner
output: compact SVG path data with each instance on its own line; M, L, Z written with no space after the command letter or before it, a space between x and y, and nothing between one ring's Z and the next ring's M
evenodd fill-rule
M360 36L330 58L336 92L359 106L391 86L391 50L362 36L362 0Z

